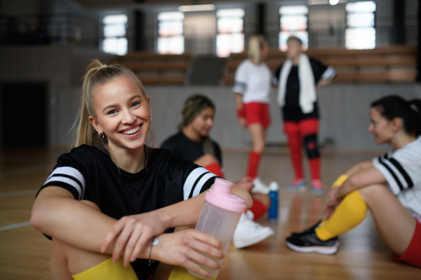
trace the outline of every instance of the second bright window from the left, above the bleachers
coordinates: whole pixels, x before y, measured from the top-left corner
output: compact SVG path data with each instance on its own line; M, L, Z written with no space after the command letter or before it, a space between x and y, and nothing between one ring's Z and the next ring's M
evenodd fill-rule
M182 12L158 14L158 53L180 55L184 52Z

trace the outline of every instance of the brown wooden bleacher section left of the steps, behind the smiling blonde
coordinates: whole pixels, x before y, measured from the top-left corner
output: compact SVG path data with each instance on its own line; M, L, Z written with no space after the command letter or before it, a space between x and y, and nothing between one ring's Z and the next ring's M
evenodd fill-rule
M143 85L184 85L192 54L159 55L154 52L129 52L119 63L131 69Z

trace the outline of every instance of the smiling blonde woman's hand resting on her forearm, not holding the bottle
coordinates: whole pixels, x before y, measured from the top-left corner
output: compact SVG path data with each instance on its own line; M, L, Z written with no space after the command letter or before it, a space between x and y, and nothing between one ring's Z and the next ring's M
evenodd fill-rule
M102 241L101 252L107 251L112 241L115 241L112 261L119 261L120 255L124 254L124 266L138 258L140 251L147 241L167 229L165 221L158 211L145 214L124 216L109 230ZM123 251L124 246L126 249Z

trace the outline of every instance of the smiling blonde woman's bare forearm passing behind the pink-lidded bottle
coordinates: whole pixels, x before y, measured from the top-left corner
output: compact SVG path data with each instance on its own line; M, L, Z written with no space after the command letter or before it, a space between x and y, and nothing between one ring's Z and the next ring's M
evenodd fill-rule
M201 208L203 207L203 202L205 202L205 193L156 211L159 211L163 220L166 221L167 228L196 225ZM244 188L234 185L232 186L232 193L246 200L246 209L250 209L253 206L250 193Z

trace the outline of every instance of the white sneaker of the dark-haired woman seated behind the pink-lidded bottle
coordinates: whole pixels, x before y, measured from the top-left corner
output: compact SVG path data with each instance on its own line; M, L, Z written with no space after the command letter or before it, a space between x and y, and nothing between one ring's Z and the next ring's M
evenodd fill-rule
M253 213L248 210L241 215L239 225L234 232L232 244L235 248L244 248L274 235L274 230L253 221Z

